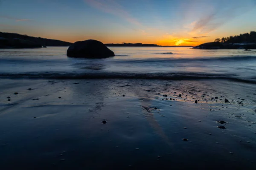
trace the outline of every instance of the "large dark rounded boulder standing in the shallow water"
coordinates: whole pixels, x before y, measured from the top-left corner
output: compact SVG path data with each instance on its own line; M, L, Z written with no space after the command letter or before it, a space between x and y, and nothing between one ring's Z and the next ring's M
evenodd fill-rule
M68 57L107 58L115 56L102 42L97 40L77 41L67 49Z

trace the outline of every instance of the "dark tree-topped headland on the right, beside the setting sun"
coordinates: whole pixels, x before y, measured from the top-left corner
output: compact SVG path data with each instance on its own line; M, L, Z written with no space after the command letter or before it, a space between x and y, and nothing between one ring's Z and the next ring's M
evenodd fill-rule
M207 42L193 48L197 49L256 49L256 32L236 36L217 38L214 42Z

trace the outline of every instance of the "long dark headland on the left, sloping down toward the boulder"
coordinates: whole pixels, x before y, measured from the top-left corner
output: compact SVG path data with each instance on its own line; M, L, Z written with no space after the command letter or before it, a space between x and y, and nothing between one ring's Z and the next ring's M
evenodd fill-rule
M71 42L0 32L0 48L41 48L42 46L70 46Z

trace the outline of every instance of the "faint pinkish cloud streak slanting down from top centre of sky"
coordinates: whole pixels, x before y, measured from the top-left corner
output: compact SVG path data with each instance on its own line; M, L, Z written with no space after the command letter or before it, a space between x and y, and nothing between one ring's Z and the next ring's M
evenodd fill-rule
M129 23L141 26L142 24L134 17L131 16L125 9L113 0L84 0L85 3L90 6L99 9L108 14L113 14L117 17L121 17Z

